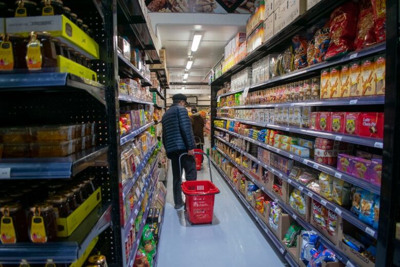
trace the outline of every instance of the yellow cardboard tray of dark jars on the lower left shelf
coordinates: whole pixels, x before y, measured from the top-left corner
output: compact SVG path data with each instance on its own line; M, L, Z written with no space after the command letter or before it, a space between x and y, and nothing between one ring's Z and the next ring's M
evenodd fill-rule
M67 237L75 231L85 220L85 218L93 211L98 203L102 201L102 189L98 187L97 190L82 203L75 211L73 211L67 218L57 218L58 237ZM60 231L61 230L61 231Z

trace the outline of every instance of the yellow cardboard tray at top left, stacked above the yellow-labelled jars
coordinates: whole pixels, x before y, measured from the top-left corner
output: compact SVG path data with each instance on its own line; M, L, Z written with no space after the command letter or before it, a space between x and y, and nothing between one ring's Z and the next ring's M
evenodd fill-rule
M28 36L31 31L47 31L90 59L99 59L98 44L64 15L6 18L7 33Z

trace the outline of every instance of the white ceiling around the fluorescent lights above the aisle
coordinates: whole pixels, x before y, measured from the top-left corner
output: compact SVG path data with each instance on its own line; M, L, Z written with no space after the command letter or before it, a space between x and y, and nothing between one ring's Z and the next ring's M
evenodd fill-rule
M156 26L162 47L167 51L167 68L170 82L183 82L183 74L191 53L193 35L202 34L197 51L192 52L193 65L187 82L208 82L204 80L210 69L219 61L224 47L237 32L245 31L245 26L214 25L160 25ZM175 89L175 86L170 86ZM176 86L176 89L182 86ZM207 89L209 86L193 85L186 89Z

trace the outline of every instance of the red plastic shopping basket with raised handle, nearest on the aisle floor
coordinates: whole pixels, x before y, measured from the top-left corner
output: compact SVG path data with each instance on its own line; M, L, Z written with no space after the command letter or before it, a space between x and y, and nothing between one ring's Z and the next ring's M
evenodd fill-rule
M186 212L191 224L212 223L214 212L214 197L219 189L212 183L210 157L202 152L194 152L195 155L205 155L208 158L211 181L186 181L182 183L182 192L186 196ZM179 156L179 171L182 177L181 157Z

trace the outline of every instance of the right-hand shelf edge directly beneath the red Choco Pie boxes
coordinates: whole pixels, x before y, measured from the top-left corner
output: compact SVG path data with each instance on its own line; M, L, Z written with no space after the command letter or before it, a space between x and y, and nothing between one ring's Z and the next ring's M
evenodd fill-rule
M239 120L239 119L231 119L231 118L225 118L225 117L216 117L216 119L226 120L226 121L236 121L236 122L241 122L241 123L246 123L246 124L250 124L250 125L271 128L271 129L301 133L303 135L327 138L327 139L338 140L338 141L352 143L352 144L358 144L358 145L371 146L371 147L376 147L376 148L383 148L383 140L378 139L378 138L368 138L368 137L361 137L361 136L354 136L354 135L345 135L345 134L341 134L341 133L327 132L327 131L315 131L315 130L310 130L310 129L306 129L306 128L287 127L287 126L276 125L276 124L269 124L269 123L265 124L265 123L258 123L258 122Z

